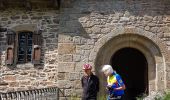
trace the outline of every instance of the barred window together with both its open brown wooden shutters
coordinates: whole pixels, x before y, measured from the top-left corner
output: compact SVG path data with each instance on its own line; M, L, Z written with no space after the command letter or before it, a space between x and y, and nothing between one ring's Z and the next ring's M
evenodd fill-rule
M41 32L22 31L16 33L7 31L6 64L33 63L40 64L41 60ZM17 41L16 41L16 37Z

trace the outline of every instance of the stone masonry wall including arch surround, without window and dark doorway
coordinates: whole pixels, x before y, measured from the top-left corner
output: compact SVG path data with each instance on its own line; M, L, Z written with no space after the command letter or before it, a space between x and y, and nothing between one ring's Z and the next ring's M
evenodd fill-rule
M7 31L0 32L0 91L58 86L65 96L80 97L82 65L92 64L102 84L101 66L124 47L136 48L146 57L149 94L170 89L168 0L62 3L59 10L15 7L0 12L2 29L16 33L41 29L43 37L40 66L25 63L9 68L5 63Z

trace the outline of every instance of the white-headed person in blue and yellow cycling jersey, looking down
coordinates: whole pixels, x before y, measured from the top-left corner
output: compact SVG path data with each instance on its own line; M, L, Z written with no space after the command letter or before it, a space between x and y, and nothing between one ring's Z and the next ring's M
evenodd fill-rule
M106 89L109 91L107 100L121 100L126 87L120 75L113 70L111 65L104 65L102 72L107 77Z

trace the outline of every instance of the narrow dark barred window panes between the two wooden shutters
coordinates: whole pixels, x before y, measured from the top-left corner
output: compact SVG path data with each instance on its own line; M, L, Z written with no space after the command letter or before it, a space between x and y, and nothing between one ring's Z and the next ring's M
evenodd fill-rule
M20 32L18 34L18 63L31 62L32 32Z

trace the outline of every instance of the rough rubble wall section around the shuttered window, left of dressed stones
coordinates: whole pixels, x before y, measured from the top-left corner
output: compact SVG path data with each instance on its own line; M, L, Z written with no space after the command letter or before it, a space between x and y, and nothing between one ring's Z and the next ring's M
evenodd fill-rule
M33 64L17 64L7 67L6 33L1 32L1 91L14 91L56 86L58 66L58 26L59 14L54 10L35 10L25 12L23 9L8 9L0 14L0 26L14 31L30 30L31 26L43 30L42 66ZM32 30L34 31L34 30ZM6 84L5 84L6 83Z

